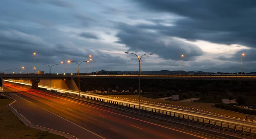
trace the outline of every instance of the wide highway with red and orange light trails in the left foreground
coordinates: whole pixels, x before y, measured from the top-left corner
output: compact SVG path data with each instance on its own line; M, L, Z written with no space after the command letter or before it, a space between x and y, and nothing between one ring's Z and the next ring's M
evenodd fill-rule
M4 82L12 106L30 122L71 133L79 139L200 139L172 128L85 105L43 91Z

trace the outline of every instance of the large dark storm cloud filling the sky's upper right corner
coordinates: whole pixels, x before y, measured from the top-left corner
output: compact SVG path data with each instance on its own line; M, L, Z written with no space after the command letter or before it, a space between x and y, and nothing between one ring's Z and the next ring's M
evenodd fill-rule
M148 11L170 12L184 17L176 20L175 26L147 26L158 28L166 35L256 48L255 0L134 1Z

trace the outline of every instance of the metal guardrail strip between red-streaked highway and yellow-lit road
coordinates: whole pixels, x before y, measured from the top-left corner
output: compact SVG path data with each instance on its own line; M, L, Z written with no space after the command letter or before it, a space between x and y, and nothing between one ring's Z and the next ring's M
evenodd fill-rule
M254 133L248 133L247 134L247 133L245 133L245 131L233 130L234 129L233 127L227 127L227 125L225 125L225 124L219 126L221 128L221 130L219 130L220 128L218 128L218 126L216 126L216 124L213 124L213 121L206 120L206 119L201 119L201 118L196 118L196 117L191 117L191 116L186 116L186 115L183 115L183 114L180 114L180 113L172 113L172 112L169 113L168 111L161 111L161 110L157 110L157 109L154 109L154 111L152 109L150 111L147 108L143 108L141 113L138 113L137 112L138 109L136 108L135 105L134 106L129 105L129 104L125 105L125 103L120 103L120 102L115 102L115 101L108 101L108 100L105 100L105 99L98 99L98 98L95 98L95 97L87 97L87 96L81 96L81 98L79 99L79 96L77 94L70 94L70 93L63 94L63 93L59 93L59 92L56 92L56 93L58 93L58 95L64 96L64 97L69 98L69 99L75 99L76 101L79 101L79 102L84 102L86 100L88 100L88 101L90 100L91 103L97 103L97 104L100 103L101 105L108 105L108 106L111 105L111 108L113 108L113 106L116 106L118 108L118 110L124 110L124 109L125 109L124 111L132 110L133 113L148 116L148 117L151 117L151 118L157 118L157 119L160 119L160 120L166 120L167 122L175 122L175 120L176 120L176 122L175 122L176 126L177 125L189 126L190 127L189 129L191 129L191 127L192 127L192 129L194 128L194 129L198 129L198 130L204 130L205 133L214 133L214 134L217 134L217 135L224 136L225 138L255 139L254 136L256 135ZM53 93L53 94L55 94L55 93ZM150 115L145 115L145 114L150 114ZM174 121L170 121L170 118L174 119ZM177 120L179 120L179 119L182 119L183 120L182 122L185 122L185 124L182 123L182 122L177 122ZM217 125L218 124L219 123L217 122ZM198 127L195 127L195 125L203 125L204 128L198 128ZM210 130L207 129L207 128L209 128ZM221 132L223 132L223 133L221 133ZM236 136L230 135L232 133L236 133ZM205 135L205 136L207 136L207 135ZM209 136L209 137L212 137L212 136Z

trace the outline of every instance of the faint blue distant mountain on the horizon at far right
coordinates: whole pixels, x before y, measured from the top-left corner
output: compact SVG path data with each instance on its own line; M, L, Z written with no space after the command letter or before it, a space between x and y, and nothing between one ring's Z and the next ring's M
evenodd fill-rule
M223 72L223 73L238 73L241 72L241 67L229 67L229 68L208 68L208 69L199 69L199 70L194 70L194 71L203 71L203 72ZM248 68L243 68L244 73L250 73L250 72L256 72L256 68L253 69L248 69Z

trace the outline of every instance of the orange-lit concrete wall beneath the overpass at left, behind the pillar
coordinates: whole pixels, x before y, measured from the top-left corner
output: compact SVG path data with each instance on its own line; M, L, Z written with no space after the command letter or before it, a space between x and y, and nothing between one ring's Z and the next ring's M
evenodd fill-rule
M29 83L31 85L30 80L14 80L15 82L21 82L21 83ZM49 79L40 79L40 82L38 85L43 85L50 87L50 80ZM52 79L52 88L60 88L65 90L72 90L72 91L79 91L78 87L76 86L76 83L73 79Z

